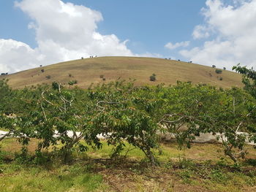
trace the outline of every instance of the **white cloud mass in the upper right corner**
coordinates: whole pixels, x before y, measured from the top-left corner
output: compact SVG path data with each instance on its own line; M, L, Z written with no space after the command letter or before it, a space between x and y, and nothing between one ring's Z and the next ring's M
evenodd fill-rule
M202 9L206 22L196 26L194 39L209 37L202 47L181 50L186 58L205 64L227 67L241 63L256 66L256 0L207 0Z

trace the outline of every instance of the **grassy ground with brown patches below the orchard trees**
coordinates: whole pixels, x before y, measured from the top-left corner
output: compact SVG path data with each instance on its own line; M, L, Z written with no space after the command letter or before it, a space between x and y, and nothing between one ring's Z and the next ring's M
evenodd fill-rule
M37 140L29 153L34 154ZM221 145L192 144L189 150L177 150L175 142L163 143L157 155L160 166L151 167L145 155L127 144L126 158L110 159L112 147L103 141L101 150L74 153L70 164L48 161L18 161L20 145L15 139L1 144L1 191L255 191L254 151L240 166L219 153ZM126 154L126 151L122 155ZM15 158L16 156L16 158ZM203 158L202 158L203 157ZM214 158L213 158L214 157ZM56 157L57 158L57 157ZM12 161L10 161L12 159Z

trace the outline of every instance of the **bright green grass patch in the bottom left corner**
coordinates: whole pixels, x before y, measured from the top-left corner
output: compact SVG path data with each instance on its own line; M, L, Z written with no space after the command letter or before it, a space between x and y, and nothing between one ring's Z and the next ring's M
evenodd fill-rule
M2 192L9 191L95 191L102 188L102 175L86 172L80 164L53 170L10 164L0 177Z

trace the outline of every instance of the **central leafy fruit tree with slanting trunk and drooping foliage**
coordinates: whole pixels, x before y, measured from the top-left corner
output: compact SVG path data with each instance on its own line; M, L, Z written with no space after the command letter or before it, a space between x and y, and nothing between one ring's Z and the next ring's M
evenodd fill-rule
M158 146L158 126L147 111L141 110L138 101L143 99L143 95L137 91L132 83L124 82L110 82L89 90L91 110L85 118L85 139L89 145L94 143L100 146L97 135L101 134L107 139L108 145L115 147L113 155L118 155L124 149L124 140L127 140L140 148L155 165L157 162L151 149ZM147 103L148 106L151 106L151 102Z

